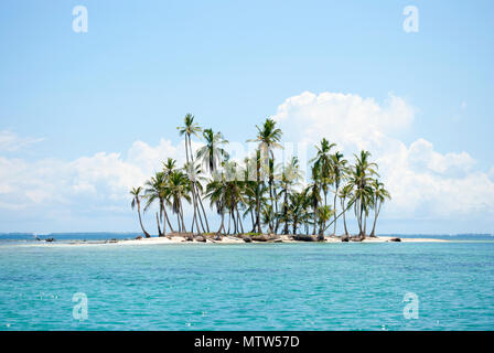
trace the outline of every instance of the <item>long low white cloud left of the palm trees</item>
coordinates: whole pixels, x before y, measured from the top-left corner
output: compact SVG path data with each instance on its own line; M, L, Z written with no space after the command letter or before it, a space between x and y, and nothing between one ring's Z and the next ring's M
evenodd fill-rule
M74 205L90 200L101 207L108 202L121 204L130 188L142 185L168 157L176 159L178 165L185 160L183 148L164 139L154 147L136 141L125 157L98 152L68 162L0 157L0 208Z

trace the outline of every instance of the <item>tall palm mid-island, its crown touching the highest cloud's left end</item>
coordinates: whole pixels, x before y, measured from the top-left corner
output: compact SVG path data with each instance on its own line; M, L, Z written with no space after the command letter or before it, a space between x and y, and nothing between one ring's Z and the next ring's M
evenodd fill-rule
M270 119L270 118L266 118L264 125L261 127L256 126L257 128L257 137L254 140L249 140L249 141L254 141L254 142L258 142L259 143L259 151L260 151L260 158L262 158L264 161L264 165L269 170L269 197L271 199L271 212L278 213L278 205L276 204L276 195L273 194L273 190L272 190L272 184L273 184L273 170L269 168L269 159L272 160L272 163L275 163L275 154L272 152L273 148L281 148L281 145L278 143L281 139L281 129L276 127L276 121ZM258 173L259 173L259 169L258 168ZM258 184L259 188L259 184ZM276 191L275 191L276 193ZM259 207L257 210L257 212L259 213ZM259 214L258 214L259 216ZM273 226L272 226L272 216L269 217L270 218L270 223L269 223L269 232L272 233L273 231Z

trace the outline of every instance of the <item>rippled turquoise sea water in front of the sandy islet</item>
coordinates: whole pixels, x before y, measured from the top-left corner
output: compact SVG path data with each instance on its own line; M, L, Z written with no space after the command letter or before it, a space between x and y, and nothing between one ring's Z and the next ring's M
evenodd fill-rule
M494 242L2 244L0 268L0 330L494 330Z

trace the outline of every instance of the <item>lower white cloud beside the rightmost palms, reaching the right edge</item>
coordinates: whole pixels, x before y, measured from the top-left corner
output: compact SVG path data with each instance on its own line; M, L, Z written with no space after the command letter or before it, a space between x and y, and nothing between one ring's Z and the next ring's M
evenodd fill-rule
M421 164L417 163L417 145L428 147L419 154ZM393 206L387 207L390 216L449 218L494 213L494 183L485 173L471 170L473 160L466 153L441 154L425 140L409 148L397 141L377 162L393 195Z

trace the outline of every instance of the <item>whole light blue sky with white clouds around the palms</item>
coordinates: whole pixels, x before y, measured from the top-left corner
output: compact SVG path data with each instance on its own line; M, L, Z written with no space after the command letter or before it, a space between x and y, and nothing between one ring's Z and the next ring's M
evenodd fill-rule
M494 233L492 1L7 0L0 45L0 232L138 232L192 113L234 149L268 116L298 153L368 149L378 232Z

